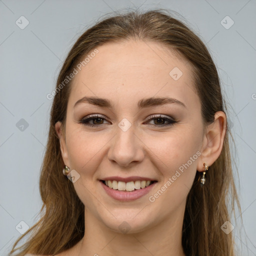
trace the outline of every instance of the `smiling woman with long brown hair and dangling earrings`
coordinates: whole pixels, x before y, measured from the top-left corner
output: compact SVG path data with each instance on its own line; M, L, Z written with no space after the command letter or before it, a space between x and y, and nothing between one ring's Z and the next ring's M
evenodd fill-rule
M51 96L42 217L17 255L234 255L219 77L187 26L162 10L98 22Z

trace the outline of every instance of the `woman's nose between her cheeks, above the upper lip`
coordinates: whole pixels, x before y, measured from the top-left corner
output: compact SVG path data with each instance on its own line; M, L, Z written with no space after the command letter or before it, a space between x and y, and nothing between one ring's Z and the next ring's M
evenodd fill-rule
M134 133L132 127L126 131L117 127L116 135L111 140L107 156L110 161L124 167L143 160L143 143L138 135Z

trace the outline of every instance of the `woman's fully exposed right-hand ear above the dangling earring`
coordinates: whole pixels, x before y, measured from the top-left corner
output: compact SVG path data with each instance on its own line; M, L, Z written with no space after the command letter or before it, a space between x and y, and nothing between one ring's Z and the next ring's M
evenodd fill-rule
M210 166L220 155L226 132L226 115L223 111L217 111L214 121L208 124L203 135L200 159L197 170L203 171L204 165Z

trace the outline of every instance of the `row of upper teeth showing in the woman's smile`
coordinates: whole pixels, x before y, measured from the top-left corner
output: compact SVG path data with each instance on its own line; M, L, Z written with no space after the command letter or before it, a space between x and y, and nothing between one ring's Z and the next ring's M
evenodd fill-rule
M150 180L135 180L129 182L116 181L116 180L105 180L106 186L112 189L118 189L120 191L133 191L134 189L145 188L149 186L153 181Z

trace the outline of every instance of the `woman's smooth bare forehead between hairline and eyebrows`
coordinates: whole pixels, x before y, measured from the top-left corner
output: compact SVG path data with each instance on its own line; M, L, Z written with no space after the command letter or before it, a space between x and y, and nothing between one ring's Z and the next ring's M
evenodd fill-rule
M139 100L155 94L198 101L191 65L167 46L131 40L105 43L97 50L96 54L86 55L80 70L76 68L71 102L84 95L116 101L123 96Z

